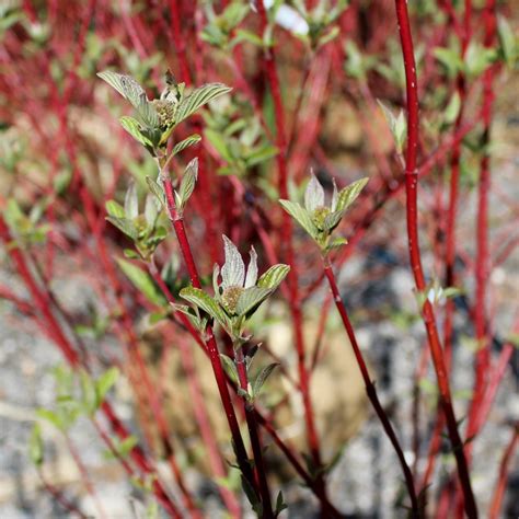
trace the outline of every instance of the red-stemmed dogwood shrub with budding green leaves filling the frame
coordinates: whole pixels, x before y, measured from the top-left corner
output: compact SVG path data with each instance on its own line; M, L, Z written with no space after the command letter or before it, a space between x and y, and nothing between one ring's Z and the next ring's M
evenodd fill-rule
M507 9L0 9L0 297L10 320L64 357L55 401L35 411L27 438L60 509L90 514L49 475L50 429L92 514L111 517L76 445L84 424L149 505L142 517L291 515L296 484L321 517L355 514L347 485L331 480L365 430L346 427L351 410L337 403L358 385L355 405L397 468L391 496L369 510L498 517L517 417L501 418L506 443L484 474L495 492L475 485L474 449L501 402L519 324L504 330L507 304L491 282L518 242L517 204L493 182L504 164L496 106L519 48ZM369 310L357 296L393 274L391 262L369 270L373 251L402 265L412 304L379 298ZM93 295L88 314L64 297L77 279ZM380 322L403 327L391 350L364 344ZM402 359L410 341L414 371L376 360ZM405 394L388 391L384 369ZM326 379L333 389L316 393ZM131 419L118 408L123 387ZM218 507L193 473L212 482Z

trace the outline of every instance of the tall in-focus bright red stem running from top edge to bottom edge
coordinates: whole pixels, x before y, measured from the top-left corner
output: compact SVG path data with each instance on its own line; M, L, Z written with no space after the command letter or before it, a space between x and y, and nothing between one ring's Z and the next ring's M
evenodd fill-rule
M405 155L405 188L406 188L406 219L407 242L410 250L410 262L415 279L415 286L419 293L426 289L424 270L422 268L422 256L418 242L418 207L417 187L418 171L418 90L416 79L416 64L414 58L414 45L411 34L410 18L406 0L395 0L396 18L399 21L399 33L404 57L406 92L407 92L407 149ZM458 430L458 423L452 407L449 379L443 359L435 312L431 303L426 300L423 307L423 319L426 326L427 339L432 356L432 362L438 379L440 404L446 416L449 439L458 465L458 474L463 488L464 506L466 515L472 519L477 517L477 508L472 493L469 468L463 452L463 442Z

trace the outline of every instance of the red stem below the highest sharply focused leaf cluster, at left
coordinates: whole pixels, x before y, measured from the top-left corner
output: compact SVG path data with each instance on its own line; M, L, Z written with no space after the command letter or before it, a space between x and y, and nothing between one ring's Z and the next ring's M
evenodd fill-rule
M175 230L175 234L178 241L178 245L181 247L182 256L184 257L184 262L186 264L187 272L189 274L191 282L195 288L201 288L198 270L196 268L195 260L193 257L191 245L187 240L187 234L184 227L184 219L182 215L180 215L178 211L176 210L173 185L171 183L171 178L164 172L162 165L163 164L161 164L161 160L159 160L160 180L164 187L166 205L168 205L168 214L173 224L173 228ZM207 337L206 347L209 354L212 371L214 371L215 379L218 385L220 400L226 412L229 428L231 430L232 440L234 442L234 449L235 449L237 459L238 459L237 461L244 477L246 477L249 483L251 483L252 487L254 488L255 487L254 477L252 474L251 466L249 464L249 458L246 454L245 446L243 443L240 426L238 424L237 415L235 415L234 407L231 401L231 395L229 393L229 388L227 385L226 373L223 371L223 367L220 360L220 353L218 351L218 346L216 344L215 335L212 333L212 328L210 325L207 326L206 337Z

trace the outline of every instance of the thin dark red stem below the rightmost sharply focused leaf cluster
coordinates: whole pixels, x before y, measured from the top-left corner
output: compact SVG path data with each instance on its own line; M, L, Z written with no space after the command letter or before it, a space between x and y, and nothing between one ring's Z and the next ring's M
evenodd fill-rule
M391 425L391 422L388 415L385 414L385 411L380 404L377 390L374 388L373 382L371 381L368 367L366 366L366 361L364 359L362 353L360 351L360 348L358 346L357 337L355 336L355 331L354 331L354 327L351 326L351 322L349 321L346 307L344 305L343 299L338 291L337 281L335 279L332 265L330 264L330 261L327 258L324 258L324 274L326 276L326 279L328 280L330 288L332 290L333 298L335 301L335 307L337 308L338 313L341 314L341 319L343 320L343 324L348 335L349 343L351 344L351 348L354 349L354 354L357 359L358 367L360 369L360 374L362 376L362 380L366 387L366 393L368 395L368 399L371 402L371 405L373 406L374 412L377 413L377 416L382 423L384 431L388 435L388 438L390 439L391 445L393 446L393 449L396 452L396 455L399 457L399 461L402 466L402 472L404 473L407 492L411 498L411 507L413 510L413 517L418 518L419 507L418 507L418 499L416 497L415 485L413 482L413 474L411 473L411 469L407 465L407 462L405 461L404 452L402 451L402 447L400 446L399 439L396 438L396 435L393 430L393 426Z

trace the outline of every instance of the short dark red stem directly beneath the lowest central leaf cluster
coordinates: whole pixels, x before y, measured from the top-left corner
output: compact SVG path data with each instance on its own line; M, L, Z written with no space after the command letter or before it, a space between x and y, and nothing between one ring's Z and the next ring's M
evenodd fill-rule
M237 366L238 377L240 379L240 388L243 391L249 392L249 374L246 372L243 346L240 346L234 349L234 364ZM254 455L256 477L260 484L260 494L262 496L263 517L265 519L270 519L274 518L273 505L270 501L270 492L268 489L265 464L263 462L263 449L257 431L257 422L256 415L254 413L254 405L249 403L245 397L243 397L243 406L245 410L245 419L249 428L249 436L251 437L251 447Z

